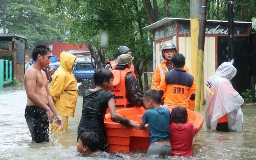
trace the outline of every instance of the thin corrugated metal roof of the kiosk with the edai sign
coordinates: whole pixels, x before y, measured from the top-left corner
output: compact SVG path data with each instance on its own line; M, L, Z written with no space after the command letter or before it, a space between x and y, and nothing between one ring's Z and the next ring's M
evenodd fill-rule
M144 27L144 28L142 28L142 29L155 29L155 28L158 28L158 27L160 27L160 26L163 26L163 25L165 25L165 24L167 24L167 23L170 23L170 22L172 22L172 21L174 21L174 20L190 20L190 19L185 19L185 18L169 18L169 17L167 17L167 18L164 18L164 19L162 19L162 20L159 20L159 21L157 21L157 22L155 22L155 23L152 23L151 25L148 25L148 26L146 26L146 27ZM207 20L208 22L228 22L227 20ZM252 24L252 22L239 22L239 21L234 21L234 23L247 23L247 24Z

